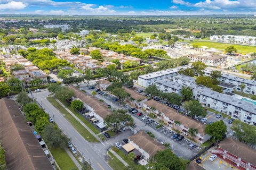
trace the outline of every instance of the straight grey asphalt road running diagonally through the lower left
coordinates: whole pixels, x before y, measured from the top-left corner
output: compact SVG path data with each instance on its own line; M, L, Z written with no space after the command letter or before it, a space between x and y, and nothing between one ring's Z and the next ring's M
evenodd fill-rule
M71 142L77 148L79 152L84 155L84 158L89 162L91 160L91 166L94 170L111 170L112 168L103 160L100 155L98 155L87 142L69 122L63 117L63 115L56 109L52 104L46 99L50 94L47 90L42 92L34 93L34 98L36 98L39 104L43 105L43 108L58 124L59 128L67 134L71 139Z

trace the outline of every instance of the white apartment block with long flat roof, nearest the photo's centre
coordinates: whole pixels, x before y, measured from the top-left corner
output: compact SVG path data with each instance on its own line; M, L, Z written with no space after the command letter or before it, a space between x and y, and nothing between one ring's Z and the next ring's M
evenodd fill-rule
M148 73L144 75L139 75L138 76L138 84L142 87L148 87L152 84L154 84L156 81L161 81L161 80L170 80L173 79L175 76L179 74L180 69L187 69L189 66L181 66L177 67L174 69L167 69L167 70L162 70L162 71L157 71L153 73Z

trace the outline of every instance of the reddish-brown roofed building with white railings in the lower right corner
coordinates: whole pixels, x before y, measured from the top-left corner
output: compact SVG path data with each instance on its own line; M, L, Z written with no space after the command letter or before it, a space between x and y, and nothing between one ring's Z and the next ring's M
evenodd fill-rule
M234 138L229 137L222 140L218 149L212 150L211 153L217 154L218 157L239 169L256 169L256 149Z

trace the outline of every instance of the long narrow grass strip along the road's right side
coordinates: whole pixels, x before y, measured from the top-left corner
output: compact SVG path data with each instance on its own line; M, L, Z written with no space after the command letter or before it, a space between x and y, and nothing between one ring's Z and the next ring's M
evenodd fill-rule
M82 137L89 141L89 142L99 142L87 129L84 128L84 126L79 123L72 115L68 113L68 111L62 107L53 97L47 97L47 100L50 101L50 103L57 108L62 114L64 114L64 117L67 119L67 121L82 135Z

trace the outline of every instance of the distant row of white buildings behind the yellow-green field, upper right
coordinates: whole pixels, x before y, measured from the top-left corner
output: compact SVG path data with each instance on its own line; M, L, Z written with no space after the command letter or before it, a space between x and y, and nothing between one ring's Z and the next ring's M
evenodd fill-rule
M222 35L222 36L211 36L210 40L220 41L226 43L235 43L235 44L254 44L256 45L256 37L251 36L233 36L233 35Z

